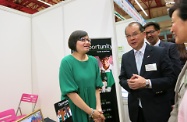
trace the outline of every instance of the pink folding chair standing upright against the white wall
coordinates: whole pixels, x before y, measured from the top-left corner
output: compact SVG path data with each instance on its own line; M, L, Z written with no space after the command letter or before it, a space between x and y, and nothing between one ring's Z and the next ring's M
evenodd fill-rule
M18 112L20 112L20 114L22 115L22 111L21 111L21 103L22 102L32 103L33 104L32 112L33 112L34 109L35 109L37 100L38 100L38 95L23 93L22 96L21 96L19 105L18 105L18 109L16 111L16 115L18 115Z

